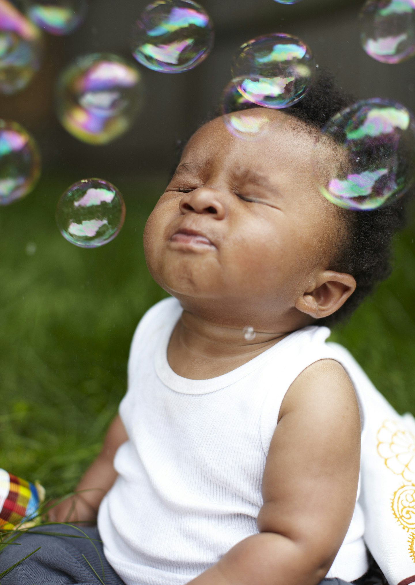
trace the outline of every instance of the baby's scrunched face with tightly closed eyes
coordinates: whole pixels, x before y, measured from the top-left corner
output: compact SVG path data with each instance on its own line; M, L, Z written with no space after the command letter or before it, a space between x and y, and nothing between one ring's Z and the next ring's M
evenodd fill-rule
M330 267L339 228L313 181L314 134L281 111L267 116L272 131L253 143L229 134L221 118L200 128L144 236L150 273L164 290L183 305L221 303L245 325L247 312L293 310Z

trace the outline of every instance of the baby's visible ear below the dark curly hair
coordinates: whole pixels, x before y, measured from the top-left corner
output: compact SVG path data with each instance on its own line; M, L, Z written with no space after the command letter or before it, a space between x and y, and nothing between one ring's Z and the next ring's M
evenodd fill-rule
M297 299L295 307L313 319L322 319L344 305L355 289L356 281L351 274L325 270L315 279L313 290Z

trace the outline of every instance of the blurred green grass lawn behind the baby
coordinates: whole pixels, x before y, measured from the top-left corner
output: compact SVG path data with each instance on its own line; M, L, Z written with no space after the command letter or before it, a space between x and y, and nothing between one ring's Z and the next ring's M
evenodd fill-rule
M142 249L160 187L119 181L127 205L122 232L101 249L83 250L54 222L70 183L43 181L0 208L0 467L38 479L48 498L73 490L100 450L125 393L135 326L165 296ZM393 276L332 336L401 412L415 411L414 237L414 228L399 237Z

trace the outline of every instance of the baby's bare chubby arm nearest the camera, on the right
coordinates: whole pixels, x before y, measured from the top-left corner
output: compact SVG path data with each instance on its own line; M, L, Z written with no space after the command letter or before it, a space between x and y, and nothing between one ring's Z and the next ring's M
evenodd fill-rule
M342 366L321 360L304 370L283 400L270 445L259 534L190 584L317 585L354 512L360 437L354 388Z

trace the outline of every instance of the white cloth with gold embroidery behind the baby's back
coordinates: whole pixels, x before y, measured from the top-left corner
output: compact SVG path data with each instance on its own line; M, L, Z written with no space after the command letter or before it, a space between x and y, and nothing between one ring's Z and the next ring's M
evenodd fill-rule
M327 345L347 369L349 352ZM408 585L415 582L415 419L397 414L357 364L352 379L365 389L359 394L365 414L360 498L365 541L390 585Z

